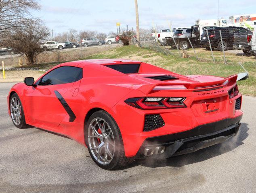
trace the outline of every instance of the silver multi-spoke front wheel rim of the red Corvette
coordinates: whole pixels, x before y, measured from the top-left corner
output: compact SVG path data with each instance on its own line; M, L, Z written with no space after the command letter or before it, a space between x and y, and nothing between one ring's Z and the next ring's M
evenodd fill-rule
M21 123L21 104L19 100L14 96L10 101L10 114L13 119L13 123L15 125L19 125Z

